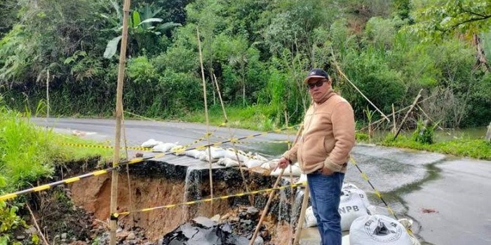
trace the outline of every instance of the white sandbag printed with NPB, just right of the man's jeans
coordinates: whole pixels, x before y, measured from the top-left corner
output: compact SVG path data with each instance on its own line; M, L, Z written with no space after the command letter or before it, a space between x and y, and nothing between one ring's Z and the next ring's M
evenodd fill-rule
M367 207L357 193L344 189L341 191L339 202L339 214L341 215L341 230L349 230L351 223L356 218L368 215Z

